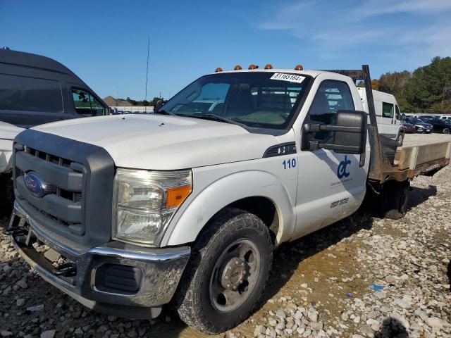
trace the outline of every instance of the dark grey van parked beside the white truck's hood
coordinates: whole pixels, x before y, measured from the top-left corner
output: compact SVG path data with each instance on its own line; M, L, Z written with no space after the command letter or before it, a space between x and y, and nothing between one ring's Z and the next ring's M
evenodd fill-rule
M108 113L104 101L61 63L41 55L0 49L1 121L29 128Z

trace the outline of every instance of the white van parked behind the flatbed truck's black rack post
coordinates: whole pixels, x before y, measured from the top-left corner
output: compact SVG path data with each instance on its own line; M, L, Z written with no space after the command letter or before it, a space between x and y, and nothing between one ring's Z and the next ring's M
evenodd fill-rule
M366 90L365 88L357 88L360 99L364 105L364 110L368 113L368 106L366 105ZM400 108L397 106L395 96L392 94L379 92L373 90L374 109L376 111L376 118L378 121L379 134L395 139L398 144L402 145L404 139L404 132L401 125Z

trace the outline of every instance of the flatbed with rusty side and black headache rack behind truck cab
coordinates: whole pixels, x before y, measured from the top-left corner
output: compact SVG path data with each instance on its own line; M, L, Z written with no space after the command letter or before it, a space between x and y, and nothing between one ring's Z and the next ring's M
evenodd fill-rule
M416 175L435 173L450 163L451 142L424 144L398 148L394 161L386 151L382 137L378 133L376 111L374 109L373 90L369 66L362 65L362 70L325 70L352 78L354 83L363 81L366 89L366 102L369 120L368 137L371 145L369 180L383 184L388 180L399 182L414 178Z

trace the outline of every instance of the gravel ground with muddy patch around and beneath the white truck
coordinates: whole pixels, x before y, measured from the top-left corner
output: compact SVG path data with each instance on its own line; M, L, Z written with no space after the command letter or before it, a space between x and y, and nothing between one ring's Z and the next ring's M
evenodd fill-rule
M404 144L445 138L406 135ZM400 220L362 208L281 246L259 310L219 337L451 337L451 168L412 187ZM130 321L81 306L30 270L0 227L0 337L204 335L171 309Z

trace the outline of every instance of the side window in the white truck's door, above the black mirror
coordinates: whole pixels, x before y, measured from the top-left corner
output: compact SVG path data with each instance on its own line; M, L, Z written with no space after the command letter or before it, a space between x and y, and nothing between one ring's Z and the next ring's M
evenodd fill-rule
M350 87L345 82L326 80L321 82L316 92L309 110L308 120L333 125L338 111L353 111L354 109ZM321 131L313 135L314 139L324 140L331 137L333 132Z

